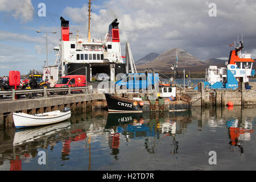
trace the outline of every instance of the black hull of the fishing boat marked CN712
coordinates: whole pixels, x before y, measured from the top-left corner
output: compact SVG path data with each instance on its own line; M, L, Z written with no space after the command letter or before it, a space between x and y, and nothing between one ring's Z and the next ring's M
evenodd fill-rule
M113 96L105 93L106 102L109 113L142 113L151 111L186 111L191 110L191 104L184 101L165 102L164 105L150 105L150 101L142 101L143 106L139 105L139 101L129 100L122 97Z

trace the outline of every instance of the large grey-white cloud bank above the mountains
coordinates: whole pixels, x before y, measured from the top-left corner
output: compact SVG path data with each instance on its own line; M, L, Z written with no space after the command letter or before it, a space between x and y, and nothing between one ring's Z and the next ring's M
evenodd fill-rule
M212 2L217 5L217 17L208 14ZM189 51L201 60L225 57L229 54L229 44L241 34L245 35L246 48L256 49L253 0L110 0L95 7L98 13L92 13L92 37L104 37L109 24L118 18L122 46L130 42L135 60L174 47ZM80 33L85 35L87 9L87 5L69 6L63 11L70 24L77 23L76 28L82 28Z

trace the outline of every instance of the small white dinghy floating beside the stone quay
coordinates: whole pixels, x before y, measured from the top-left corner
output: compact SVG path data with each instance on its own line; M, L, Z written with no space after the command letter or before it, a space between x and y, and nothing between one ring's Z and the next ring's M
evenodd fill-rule
M26 113L13 113L13 120L16 129L23 127L34 127L49 125L57 122L64 121L71 117L71 111L65 107L63 111L56 110L42 114L26 114Z

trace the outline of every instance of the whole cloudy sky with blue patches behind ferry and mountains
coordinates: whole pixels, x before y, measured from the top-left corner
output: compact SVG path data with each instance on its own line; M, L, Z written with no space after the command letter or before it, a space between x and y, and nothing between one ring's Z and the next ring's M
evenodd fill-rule
M46 16L39 16L40 3ZM210 16L216 5L216 15ZM53 47L60 39L60 16L69 20L71 32L87 35L88 1L0 0L0 76L10 70L22 74L42 70L48 35L49 64L55 63ZM243 34L245 50L256 57L255 0L94 0L91 36L104 38L118 18L123 55L130 43L134 60L150 52L181 48L198 59L227 58L237 36Z

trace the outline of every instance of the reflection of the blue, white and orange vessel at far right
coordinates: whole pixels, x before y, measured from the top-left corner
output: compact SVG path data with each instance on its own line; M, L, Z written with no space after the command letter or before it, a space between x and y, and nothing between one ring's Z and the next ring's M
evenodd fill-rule
M249 141L251 139L251 133L253 124L251 118L229 119L226 122L228 128L228 134L231 146L237 146L240 148L241 154L243 154L242 141Z

